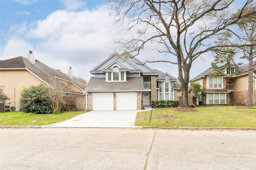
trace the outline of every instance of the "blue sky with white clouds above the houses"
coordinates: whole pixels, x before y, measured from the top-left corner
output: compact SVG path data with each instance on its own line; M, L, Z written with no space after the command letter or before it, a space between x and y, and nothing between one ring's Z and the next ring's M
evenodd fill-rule
M124 52L114 43L121 28L109 13L103 0L0 0L0 59L33 51L35 59L51 68L68 73L71 66L73 76L89 81L89 71L111 54ZM149 45L136 58L145 61L149 56L156 60L160 54ZM211 66L212 57L202 58L192 64L190 79ZM147 65L178 77L177 65Z

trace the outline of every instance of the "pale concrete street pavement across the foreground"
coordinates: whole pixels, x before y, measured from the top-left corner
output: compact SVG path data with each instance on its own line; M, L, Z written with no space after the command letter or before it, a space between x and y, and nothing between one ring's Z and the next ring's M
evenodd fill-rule
M255 170L256 131L3 128L1 170Z

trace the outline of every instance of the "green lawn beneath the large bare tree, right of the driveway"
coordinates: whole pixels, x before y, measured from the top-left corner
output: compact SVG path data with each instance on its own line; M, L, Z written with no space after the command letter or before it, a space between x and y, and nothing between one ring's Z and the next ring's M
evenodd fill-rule
M256 127L256 107L237 106L196 107L195 112L176 112L174 108L154 108L138 112L136 126L163 127ZM217 123L223 123L218 125Z

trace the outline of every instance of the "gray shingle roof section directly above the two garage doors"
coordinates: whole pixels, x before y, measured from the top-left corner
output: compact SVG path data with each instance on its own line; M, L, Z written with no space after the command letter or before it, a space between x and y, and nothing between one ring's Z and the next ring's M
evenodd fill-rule
M106 82L106 78L91 77L85 91L142 91L143 77L127 77L126 82Z

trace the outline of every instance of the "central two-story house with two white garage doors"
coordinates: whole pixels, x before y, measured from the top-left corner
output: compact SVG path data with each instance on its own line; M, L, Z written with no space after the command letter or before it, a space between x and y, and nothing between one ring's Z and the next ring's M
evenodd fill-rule
M88 110L137 110L152 100L178 100L176 78L127 52L112 54L90 73L93 77L85 88Z

